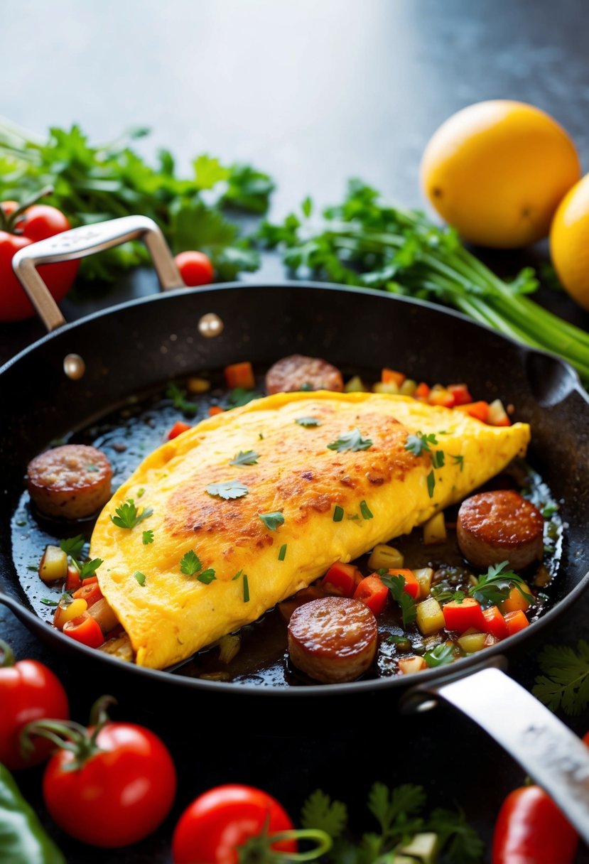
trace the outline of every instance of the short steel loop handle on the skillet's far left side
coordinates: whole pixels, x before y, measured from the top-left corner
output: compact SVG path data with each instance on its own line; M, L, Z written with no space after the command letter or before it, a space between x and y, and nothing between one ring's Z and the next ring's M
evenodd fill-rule
M61 327L66 320L36 270L39 264L83 258L129 240L142 240L147 246L162 291L184 288L180 272L161 230L154 220L147 216L123 216L122 219L110 219L108 222L72 228L71 231L55 234L54 237L32 243L16 252L12 267L49 332Z

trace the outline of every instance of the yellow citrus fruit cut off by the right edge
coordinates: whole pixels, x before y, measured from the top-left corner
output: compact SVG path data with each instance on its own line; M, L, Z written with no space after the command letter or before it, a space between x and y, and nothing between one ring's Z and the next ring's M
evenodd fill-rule
M567 292L589 309L589 174L565 195L554 214L550 256Z

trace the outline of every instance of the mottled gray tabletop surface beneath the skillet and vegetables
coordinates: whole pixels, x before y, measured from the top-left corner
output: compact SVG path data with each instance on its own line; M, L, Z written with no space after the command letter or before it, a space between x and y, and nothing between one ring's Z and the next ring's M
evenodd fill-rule
M2 0L0 56L9 83L0 114L37 133L78 122L97 142L126 126L148 125L153 134L137 149L152 156L167 146L186 169L203 151L255 162L279 183L275 215L307 194L322 204L338 198L350 175L416 206L423 203L417 177L428 137L453 111L480 99L518 98L549 111L589 166L586 21L583 0L558 6L548 0ZM525 253L516 260L527 259ZM505 266L504 258L497 263ZM276 263L269 259L264 272L278 272ZM135 290L153 287L148 279ZM121 286L118 294L130 290ZM566 300L560 308L574 317ZM2 327L0 360L40 332L35 324ZM585 600L554 632L554 642L587 637L587 613ZM0 635L21 656L50 658L2 609ZM50 662L83 719L98 684L79 683L63 658ZM537 672L533 656L518 660L514 671L529 685ZM323 785L339 793L330 766L340 763L345 746L359 770L360 794L377 778L421 782L435 804L459 800L489 835L501 798L521 779L485 734L449 710L404 719L401 734L388 734L399 721L360 706L358 728L373 730L368 753L353 738L333 734L337 718L326 722L312 711L301 726L319 724L316 739L281 738L266 720L274 738L244 742L236 731L234 739L217 742L215 753L205 753L206 708L172 723L160 706L149 706L149 694L143 705L116 695L125 716L174 741L181 774L176 813L206 785L231 779L288 797L283 790L296 785L289 780L295 772L309 789ZM589 715L572 725L586 731ZM37 779L24 781L36 801ZM120 853L69 844L68 861L168 861L172 824L154 841ZM65 838L60 842L66 848ZM586 860L581 854L579 861Z

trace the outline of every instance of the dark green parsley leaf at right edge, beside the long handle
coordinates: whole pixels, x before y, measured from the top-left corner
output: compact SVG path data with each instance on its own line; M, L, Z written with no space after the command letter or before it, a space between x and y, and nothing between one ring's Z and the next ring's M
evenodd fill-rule
M580 639L575 651L570 645L546 645L538 655L544 673L536 677L532 693L551 711L559 708L570 716L589 705L589 643Z

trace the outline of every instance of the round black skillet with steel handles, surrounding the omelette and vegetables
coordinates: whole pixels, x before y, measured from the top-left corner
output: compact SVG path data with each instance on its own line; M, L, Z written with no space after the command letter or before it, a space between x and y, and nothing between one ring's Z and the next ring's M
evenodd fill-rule
M152 252L166 293L65 324L59 309L43 295L35 265L82 257L139 237ZM15 269L54 332L0 369L1 602L55 650L70 651L85 664L100 664L109 677L121 677L138 689L192 691L197 698L206 698L207 709L214 703L221 713L227 706L235 712L236 707L254 704L257 711L269 709L286 718L297 705L316 713L328 700L331 710L339 712L366 697L374 710L386 705L390 712L391 702L398 699L402 710L410 711L428 708L442 696L471 715L546 785L589 842L585 747L499 668L505 653L525 648L589 584L589 399L570 367L457 313L377 291L299 282L175 290L180 276L156 226L142 217L74 229L28 246L15 258ZM527 631L511 637L508 645L488 648L484 663L477 656L466 658L450 674L427 670L417 680L383 678L291 689L211 682L127 666L74 644L41 621L16 578L9 541L10 518L27 462L50 440L87 426L131 394L155 384L240 359L269 365L295 352L344 367L392 365L417 379L467 378L472 390L489 400L500 397L514 403L517 416L533 430L530 459L554 497L562 499L561 516L568 525L552 609Z

